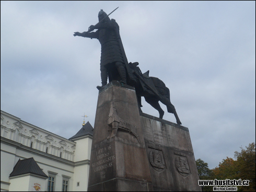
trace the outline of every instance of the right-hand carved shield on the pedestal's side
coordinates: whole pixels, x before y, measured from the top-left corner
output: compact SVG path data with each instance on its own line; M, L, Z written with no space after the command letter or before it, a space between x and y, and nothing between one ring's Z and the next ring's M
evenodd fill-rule
M190 174L188 159L185 155L181 153L174 153L175 155L175 166L176 170L181 174L183 177L187 177Z

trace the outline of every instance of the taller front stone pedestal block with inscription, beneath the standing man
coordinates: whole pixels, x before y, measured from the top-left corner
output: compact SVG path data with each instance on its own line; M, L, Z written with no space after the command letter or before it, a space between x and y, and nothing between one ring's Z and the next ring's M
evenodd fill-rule
M152 191L135 90L111 81L98 97L88 191Z

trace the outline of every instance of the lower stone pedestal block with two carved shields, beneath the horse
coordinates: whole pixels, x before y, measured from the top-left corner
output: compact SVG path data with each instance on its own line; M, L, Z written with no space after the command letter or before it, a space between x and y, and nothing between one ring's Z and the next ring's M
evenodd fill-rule
M154 191L201 191L189 129L141 113Z

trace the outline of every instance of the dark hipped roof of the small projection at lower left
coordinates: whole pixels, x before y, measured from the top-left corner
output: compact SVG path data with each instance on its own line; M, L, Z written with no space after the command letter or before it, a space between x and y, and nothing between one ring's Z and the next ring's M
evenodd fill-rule
M36 175L44 176L48 178L48 176L41 170L39 165L33 158L20 160L14 166L13 172L10 173L9 177L23 175L27 173L33 173Z

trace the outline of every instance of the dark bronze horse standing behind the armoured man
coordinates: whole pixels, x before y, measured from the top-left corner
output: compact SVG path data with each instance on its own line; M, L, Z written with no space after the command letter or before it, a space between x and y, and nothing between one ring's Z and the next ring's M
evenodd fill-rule
M149 70L146 73L142 74L141 69L137 67L138 62L129 64L136 80L134 87L137 95L139 111L142 112L141 97L144 97L146 102L153 106L159 112L159 118L162 118L165 112L161 109L161 106L159 105L160 101L167 106L167 111L169 113L174 114L177 124L181 125L176 109L174 105L171 104L170 91L165 86L165 83L156 77L149 77Z

